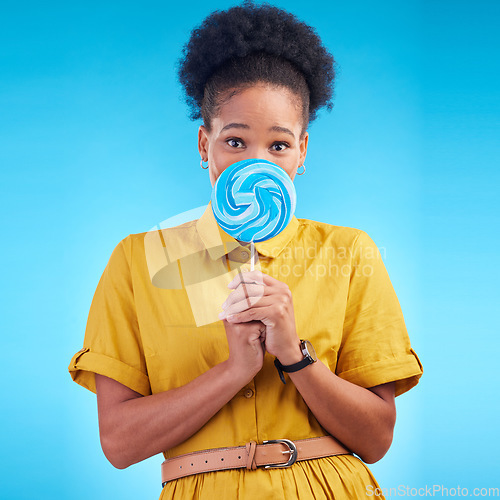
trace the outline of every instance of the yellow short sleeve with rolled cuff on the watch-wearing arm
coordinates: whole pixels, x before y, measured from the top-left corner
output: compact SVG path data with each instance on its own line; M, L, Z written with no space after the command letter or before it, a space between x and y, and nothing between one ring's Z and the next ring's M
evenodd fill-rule
M398 396L418 383L422 364L411 348L380 251L364 231L354 242L352 256L336 373L362 387L395 382Z

